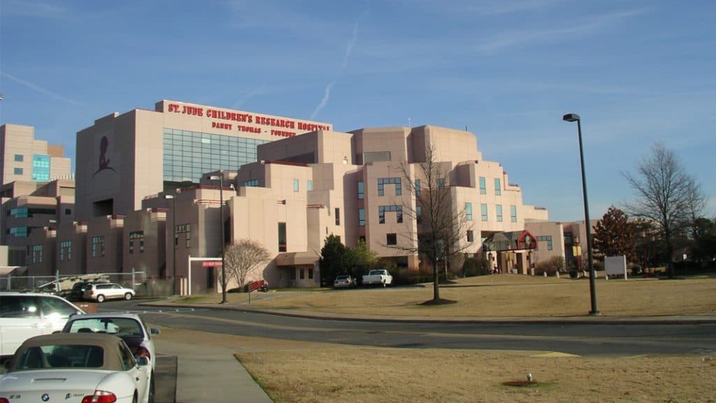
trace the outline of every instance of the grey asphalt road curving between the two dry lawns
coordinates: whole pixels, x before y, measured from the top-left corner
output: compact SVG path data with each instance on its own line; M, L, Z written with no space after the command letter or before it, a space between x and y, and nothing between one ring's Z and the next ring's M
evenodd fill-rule
M241 310L157 308L117 301L159 326L359 346L558 351L580 356L713 354L714 323L415 323L294 318Z

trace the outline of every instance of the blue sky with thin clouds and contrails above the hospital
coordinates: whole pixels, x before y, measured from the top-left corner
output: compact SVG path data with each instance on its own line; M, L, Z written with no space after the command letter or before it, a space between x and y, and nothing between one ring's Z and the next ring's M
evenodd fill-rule
M162 99L478 136L523 201L591 218L655 141L716 213L714 1L0 1L0 123L65 146Z

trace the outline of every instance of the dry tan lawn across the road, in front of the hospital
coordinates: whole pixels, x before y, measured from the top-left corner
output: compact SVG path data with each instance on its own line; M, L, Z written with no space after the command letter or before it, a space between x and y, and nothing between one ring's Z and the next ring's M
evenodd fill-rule
M602 316L607 317L713 315L716 275L675 280L599 278L596 296ZM246 294L228 297L234 303L247 300ZM422 305L432 299L432 284L425 288L295 291L256 297L251 306L257 308L367 316L561 317L585 316L590 309L588 280L506 274L465 278L442 285L440 297L457 303L439 306ZM218 298L220 295L204 295L191 302L216 303Z

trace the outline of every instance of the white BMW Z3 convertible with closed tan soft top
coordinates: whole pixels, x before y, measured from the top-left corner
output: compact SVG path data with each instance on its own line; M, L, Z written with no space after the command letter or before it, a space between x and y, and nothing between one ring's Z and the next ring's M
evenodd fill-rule
M117 336L57 333L29 338L0 378L0 403L148 403L150 366Z

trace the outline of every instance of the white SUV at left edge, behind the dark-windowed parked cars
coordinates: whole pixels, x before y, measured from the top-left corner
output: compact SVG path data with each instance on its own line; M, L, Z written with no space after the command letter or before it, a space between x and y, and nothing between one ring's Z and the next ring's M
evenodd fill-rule
M70 316L82 313L57 295L0 291L0 359L32 336L62 331Z

